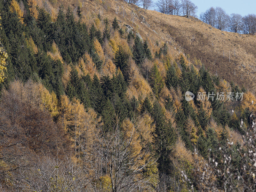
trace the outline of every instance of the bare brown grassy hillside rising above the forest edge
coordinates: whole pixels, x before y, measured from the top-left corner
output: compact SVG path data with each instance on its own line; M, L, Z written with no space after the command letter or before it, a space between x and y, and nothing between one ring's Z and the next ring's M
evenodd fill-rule
M71 4L65 1L60 2L66 6L73 5L74 9L79 4L77 1L72 1ZM98 13L100 8L102 9L100 1L84 1L84 7L86 7L84 11L95 12L95 5ZM118 14L115 11L117 6ZM109 0L108 9L103 9L103 14L111 19L117 17L121 21L121 26L128 24L134 27L143 39L151 39L154 44L156 41L168 42L173 49L175 47L177 51L181 50L188 54L191 62L195 58L201 60L212 74L217 72L217 75L229 82L233 81L240 86L255 89L255 36L220 31L196 18L166 15L127 3L124 3L123 18L122 7L123 1ZM133 8L136 15L132 24Z

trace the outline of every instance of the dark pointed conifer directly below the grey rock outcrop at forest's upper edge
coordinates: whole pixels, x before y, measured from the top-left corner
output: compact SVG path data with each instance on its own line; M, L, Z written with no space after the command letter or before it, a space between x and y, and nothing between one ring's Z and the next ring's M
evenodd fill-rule
M136 36L133 45L132 58L138 66L141 66L145 59L145 50L140 37Z

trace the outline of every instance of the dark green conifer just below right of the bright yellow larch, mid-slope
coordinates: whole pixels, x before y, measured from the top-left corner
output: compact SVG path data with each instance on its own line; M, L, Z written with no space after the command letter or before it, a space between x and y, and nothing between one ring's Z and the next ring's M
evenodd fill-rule
M121 44L118 45L118 50L116 51L114 63L117 68L120 68L121 72L124 74L125 79L128 79L128 56L124 52L124 49Z

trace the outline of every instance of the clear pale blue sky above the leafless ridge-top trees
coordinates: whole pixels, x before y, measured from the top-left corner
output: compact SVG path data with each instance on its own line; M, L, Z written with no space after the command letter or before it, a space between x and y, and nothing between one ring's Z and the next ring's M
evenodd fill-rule
M157 0L154 0L155 2ZM192 0L194 4L197 5L198 11L197 16L200 15L201 12L204 12L209 7L213 6L220 6L228 14L231 13L239 13L241 15L247 15L248 13L255 13L256 14L256 1L255 0Z

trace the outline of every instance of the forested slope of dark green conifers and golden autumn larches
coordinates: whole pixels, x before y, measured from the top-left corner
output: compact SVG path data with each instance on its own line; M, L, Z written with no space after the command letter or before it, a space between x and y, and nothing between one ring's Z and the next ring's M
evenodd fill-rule
M113 4L0 0L0 191L255 191L254 92Z

